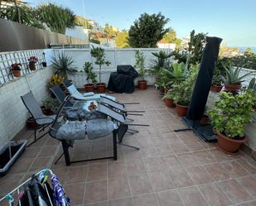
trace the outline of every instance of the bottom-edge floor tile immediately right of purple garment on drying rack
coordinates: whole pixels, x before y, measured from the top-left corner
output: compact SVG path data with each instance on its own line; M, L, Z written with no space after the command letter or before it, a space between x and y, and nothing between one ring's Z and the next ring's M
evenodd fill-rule
M65 185L65 194L70 198L72 205L83 204L85 192L85 184L69 184Z

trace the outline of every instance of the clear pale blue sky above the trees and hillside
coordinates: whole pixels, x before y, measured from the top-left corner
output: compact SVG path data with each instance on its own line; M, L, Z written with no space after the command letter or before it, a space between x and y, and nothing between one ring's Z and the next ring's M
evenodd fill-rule
M36 6L46 0L27 0ZM227 46L256 46L256 0L53 0L75 14L126 29L140 14L162 12L179 38L196 32L219 36Z

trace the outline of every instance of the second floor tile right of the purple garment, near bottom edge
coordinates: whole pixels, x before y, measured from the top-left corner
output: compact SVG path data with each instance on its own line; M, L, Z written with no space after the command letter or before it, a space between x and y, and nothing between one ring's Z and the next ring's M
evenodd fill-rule
M88 182L85 185L85 204L108 199L107 180Z

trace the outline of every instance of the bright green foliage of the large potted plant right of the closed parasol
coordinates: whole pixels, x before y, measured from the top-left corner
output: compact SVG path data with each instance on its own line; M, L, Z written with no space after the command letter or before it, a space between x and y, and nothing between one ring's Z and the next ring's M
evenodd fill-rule
M229 138L244 137L246 124L252 122L254 103L255 98L249 89L237 95L220 93L220 99L215 102L214 108L208 111L215 131Z

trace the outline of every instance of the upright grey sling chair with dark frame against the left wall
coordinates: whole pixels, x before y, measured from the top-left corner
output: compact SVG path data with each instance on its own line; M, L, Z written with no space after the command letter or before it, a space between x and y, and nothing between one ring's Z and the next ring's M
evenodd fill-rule
M33 93L26 93L25 95L21 96L21 98L28 112L35 119L36 123L40 126L40 128L37 128L39 132L44 131L46 127L50 126L51 123L54 122L56 115L46 116L44 113L42 113L41 107L39 103L36 102L36 98L34 97ZM46 136L47 132L36 138L37 129L34 129L34 141L32 141L28 146L34 144L36 141L41 139L41 137Z

